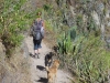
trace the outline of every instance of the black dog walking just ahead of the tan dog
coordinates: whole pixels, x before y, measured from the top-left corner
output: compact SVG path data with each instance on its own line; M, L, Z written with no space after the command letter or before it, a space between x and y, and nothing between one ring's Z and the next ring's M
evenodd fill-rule
M45 68L50 68L53 63L53 52L50 52L48 54L45 55Z

